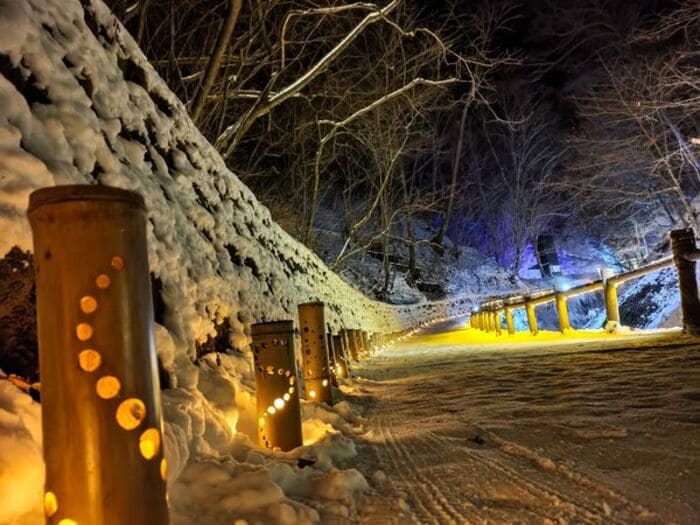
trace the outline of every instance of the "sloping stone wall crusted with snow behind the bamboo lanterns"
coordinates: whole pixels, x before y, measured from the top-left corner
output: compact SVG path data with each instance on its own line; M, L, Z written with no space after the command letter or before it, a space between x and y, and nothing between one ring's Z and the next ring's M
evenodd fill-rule
M0 255L31 249L31 191L106 184L144 196L164 324L192 356L224 319L243 348L251 322L309 300L335 327L382 332L451 308L371 301L288 236L100 0L0 6Z

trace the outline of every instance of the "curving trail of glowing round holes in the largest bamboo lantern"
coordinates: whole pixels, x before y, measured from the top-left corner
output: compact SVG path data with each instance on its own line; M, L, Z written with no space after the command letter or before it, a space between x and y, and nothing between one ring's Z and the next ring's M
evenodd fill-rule
M119 274L125 268L124 258L115 255L110 261L111 271ZM95 286L99 293L106 292L112 285L112 277L107 273L101 273L95 278ZM84 295L80 298L80 313L84 317L75 327L75 336L81 345L88 346L95 333L90 316L99 307L99 302L95 295ZM86 373L92 374L102 365L102 355L92 347L83 348L78 353L78 366ZM116 398L121 392L121 381L113 375L103 375L95 382L95 392L97 396L104 400ZM146 418L146 405L141 399L130 397L123 400L115 412L117 424L126 431L136 430ZM152 460L161 449L161 432L157 428L148 428L139 436L138 449L145 460ZM167 462L165 458L160 461L160 477L165 481L167 477ZM53 517L59 511L60 502L56 494L50 490L44 494L44 513L46 517ZM75 520L62 518L58 525L77 525Z

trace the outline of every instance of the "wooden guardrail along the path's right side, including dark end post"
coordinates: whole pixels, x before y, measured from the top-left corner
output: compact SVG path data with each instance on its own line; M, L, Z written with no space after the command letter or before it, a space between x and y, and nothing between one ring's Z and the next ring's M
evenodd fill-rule
M687 333L700 335L700 299L698 299L695 270L695 263L700 259L700 251L695 245L695 232L692 229L674 230L670 232L669 236L673 254L670 257L659 259L629 272L581 284L569 290L546 290L486 301L479 306L477 311L472 313L470 326L500 335L503 330L502 316L505 316L506 330L509 334L514 334L516 329L513 312L519 308L525 308L530 332L533 335L537 335L539 327L537 326L537 312L535 308L542 304L554 302L559 319L559 329L562 332L567 332L571 330L568 299L598 291L603 292L607 319L606 325L619 323L618 286L632 279L675 267L681 295L683 329Z

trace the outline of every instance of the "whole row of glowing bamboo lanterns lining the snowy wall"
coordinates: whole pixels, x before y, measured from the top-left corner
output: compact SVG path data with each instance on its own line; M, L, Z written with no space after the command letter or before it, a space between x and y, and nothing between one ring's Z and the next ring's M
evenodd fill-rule
M30 196L46 522L169 522L153 306L140 195L56 186ZM305 397L331 404L351 362L401 334L333 333L323 303L298 307ZM294 322L252 326L258 443L302 445Z

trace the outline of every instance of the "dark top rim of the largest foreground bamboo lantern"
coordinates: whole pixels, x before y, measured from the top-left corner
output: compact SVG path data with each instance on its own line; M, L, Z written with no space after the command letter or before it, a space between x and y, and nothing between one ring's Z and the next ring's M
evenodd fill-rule
M51 204L70 201L118 201L129 203L145 210L143 197L129 190L94 184L66 184L33 191L29 195L28 213Z

